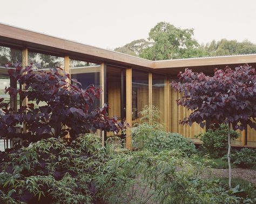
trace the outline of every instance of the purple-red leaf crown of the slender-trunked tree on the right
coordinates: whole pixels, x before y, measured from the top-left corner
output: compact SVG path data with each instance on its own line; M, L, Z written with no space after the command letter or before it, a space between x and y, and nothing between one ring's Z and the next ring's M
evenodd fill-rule
M247 64L231 69L215 69L214 76L186 69L178 75L180 82L171 86L183 93L178 105L192 110L181 124L197 122L203 128L210 124L231 123L244 130L247 124L256 129L256 73Z

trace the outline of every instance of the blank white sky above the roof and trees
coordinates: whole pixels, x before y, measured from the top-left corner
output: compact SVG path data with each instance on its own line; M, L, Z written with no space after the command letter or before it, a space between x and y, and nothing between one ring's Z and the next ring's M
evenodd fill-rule
M199 43L256 43L255 0L1 0L0 22L113 49L147 38L165 21L193 28Z

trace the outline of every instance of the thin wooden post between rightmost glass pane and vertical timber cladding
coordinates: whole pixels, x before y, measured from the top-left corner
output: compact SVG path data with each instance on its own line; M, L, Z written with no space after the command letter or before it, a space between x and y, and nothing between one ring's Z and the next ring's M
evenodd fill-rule
M164 82L164 129L170 131L170 79L165 78Z

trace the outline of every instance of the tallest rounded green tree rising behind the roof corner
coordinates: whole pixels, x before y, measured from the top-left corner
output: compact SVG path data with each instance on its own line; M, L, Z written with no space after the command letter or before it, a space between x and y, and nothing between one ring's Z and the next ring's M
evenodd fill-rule
M167 60L202 57L204 49L193 38L193 29L180 29L166 22L160 22L149 32L152 46L145 48L139 57L150 60Z

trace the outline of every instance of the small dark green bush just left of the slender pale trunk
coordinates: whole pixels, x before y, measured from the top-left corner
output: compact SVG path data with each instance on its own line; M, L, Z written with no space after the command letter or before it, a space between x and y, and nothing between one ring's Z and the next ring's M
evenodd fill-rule
M218 129L210 129L207 132L198 135L200 140L203 142L201 150L209 154L212 158L221 158L227 153L228 144L227 137L228 127L227 125L221 124ZM238 132L231 131L231 138L238 138Z

